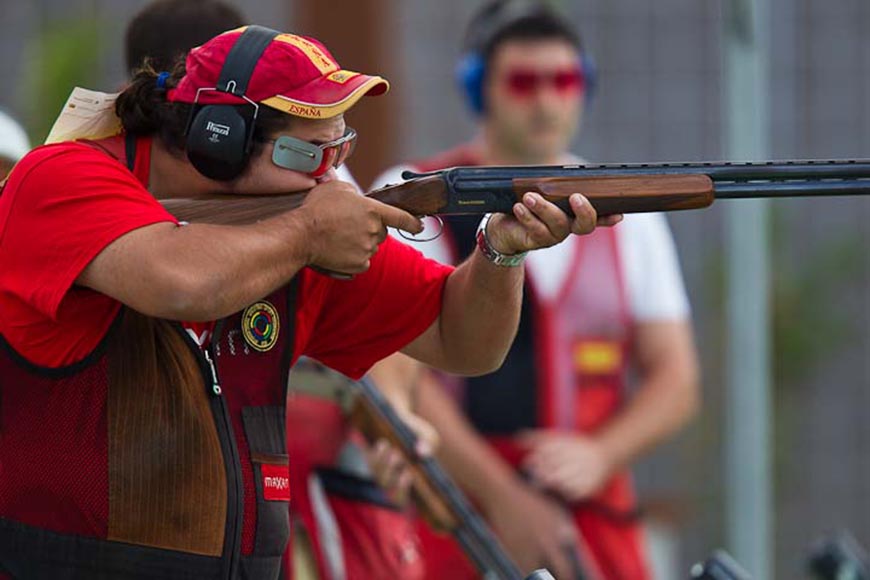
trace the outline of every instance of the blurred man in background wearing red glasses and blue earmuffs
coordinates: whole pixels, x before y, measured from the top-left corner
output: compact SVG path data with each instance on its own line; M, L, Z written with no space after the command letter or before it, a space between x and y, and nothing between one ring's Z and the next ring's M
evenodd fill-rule
M542 2L488 2L465 50L458 76L477 138L393 168L375 187L409 168L581 161L568 148L594 71L573 26ZM476 225L450 219L437 243L415 245L457 263L474 249ZM517 339L498 372L466 380L465 414L431 374L415 411L438 430L438 457L524 569L578 577L572 560L585 554L581 566L608 580L649 578L627 468L699 404L689 304L665 219L628 216L538 252L526 275ZM396 364L408 362L382 366ZM428 577L473 577L449 539L421 535Z

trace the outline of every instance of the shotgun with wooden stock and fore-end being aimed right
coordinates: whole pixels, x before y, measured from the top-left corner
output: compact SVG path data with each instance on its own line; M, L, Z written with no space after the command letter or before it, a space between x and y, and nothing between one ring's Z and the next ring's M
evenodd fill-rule
M566 212L566 198L582 193L599 215L699 209L716 199L870 194L870 160L453 167L406 171L403 177L408 181L367 195L426 216L510 212L527 191ZM304 199L305 193L218 195L163 204L187 221L244 224L298 207ZM212 201L220 202L220 211Z

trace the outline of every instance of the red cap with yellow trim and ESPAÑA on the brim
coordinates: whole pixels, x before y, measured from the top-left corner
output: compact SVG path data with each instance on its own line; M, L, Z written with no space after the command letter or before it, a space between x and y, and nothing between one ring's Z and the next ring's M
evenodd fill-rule
M220 34L187 55L186 73L167 98L193 103L199 89L217 86L224 61L246 27ZM379 76L342 69L323 44L314 38L279 34L266 47L245 96L256 103L307 119L328 119L351 108L364 95L382 95L390 83ZM203 91L202 104L244 104L244 99L221 91Z

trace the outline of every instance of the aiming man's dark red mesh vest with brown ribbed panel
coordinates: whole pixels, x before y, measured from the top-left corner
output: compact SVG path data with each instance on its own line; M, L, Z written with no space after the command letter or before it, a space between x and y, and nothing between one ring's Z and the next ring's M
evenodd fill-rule
M100 147L128 157L121 138ZM65 368L34 366L0 336L0 573L277 578L295 294L218 321L204 348L122 307Z

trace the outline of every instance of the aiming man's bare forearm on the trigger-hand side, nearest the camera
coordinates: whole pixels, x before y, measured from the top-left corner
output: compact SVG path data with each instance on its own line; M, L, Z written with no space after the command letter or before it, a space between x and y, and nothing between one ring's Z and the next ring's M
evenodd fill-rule
M249 226L155 224L113 242L77 282L150 316L215 320L305 266L298 221L291 212Z

